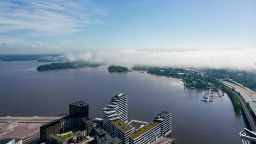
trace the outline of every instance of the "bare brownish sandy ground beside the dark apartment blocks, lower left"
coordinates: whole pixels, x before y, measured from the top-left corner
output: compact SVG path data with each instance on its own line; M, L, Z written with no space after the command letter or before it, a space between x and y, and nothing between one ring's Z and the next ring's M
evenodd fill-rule
M0 139L26 137L39 135L40 126L63 116L0 116ZM1 129L2 128L2 129Z

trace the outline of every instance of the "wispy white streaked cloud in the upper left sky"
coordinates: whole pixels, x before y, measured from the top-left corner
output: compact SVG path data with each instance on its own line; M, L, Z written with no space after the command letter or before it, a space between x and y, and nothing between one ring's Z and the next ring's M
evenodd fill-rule
M102 21L104 9L91 1L0 1L0 33L19 29L45 34L82 31Z

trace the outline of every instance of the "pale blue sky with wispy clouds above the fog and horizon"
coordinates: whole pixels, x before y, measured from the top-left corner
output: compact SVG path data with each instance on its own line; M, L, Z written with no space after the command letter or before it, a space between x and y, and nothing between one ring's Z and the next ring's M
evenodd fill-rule
M256 49L256 1L1 1L0 53Z

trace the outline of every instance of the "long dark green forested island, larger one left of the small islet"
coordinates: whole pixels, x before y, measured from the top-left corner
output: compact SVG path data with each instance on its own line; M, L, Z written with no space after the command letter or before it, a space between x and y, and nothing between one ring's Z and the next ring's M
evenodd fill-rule
M83 67L98 67L99 63L90 63L84 61L65 62L65 63L51 63L44 64L37 67L38 71L54 70L54 69L68 69L68 68L83 68Z

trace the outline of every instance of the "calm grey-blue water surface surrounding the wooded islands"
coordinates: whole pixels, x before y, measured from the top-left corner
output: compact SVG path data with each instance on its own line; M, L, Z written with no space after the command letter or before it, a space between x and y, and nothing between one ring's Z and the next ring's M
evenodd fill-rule
M175 143L241 143L246 127L234 113L228 97L216 94L213 103L201 101L204 89L188 90L179 79L132 71L108 73L106 67L38 72L45 62L0 62L0 115L56 115L68 112L68 104L84 100L92 118L117 92L129 95L129 119L150 122L156 112L172 112Z

